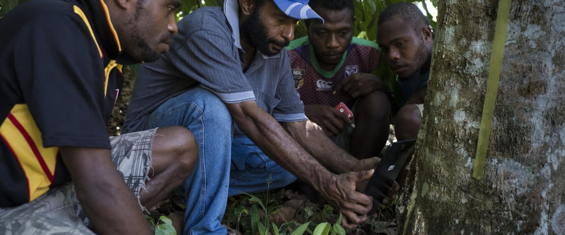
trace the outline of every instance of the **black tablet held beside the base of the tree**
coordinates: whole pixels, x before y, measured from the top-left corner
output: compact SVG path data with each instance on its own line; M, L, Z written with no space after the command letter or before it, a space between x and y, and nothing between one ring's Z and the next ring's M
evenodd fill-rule
M371 176L363 193L373 197L373 209L370 214L379 209L381 202L388 194L390 187L405 165L414 148L416 140L403 140L389 145L386 152Z

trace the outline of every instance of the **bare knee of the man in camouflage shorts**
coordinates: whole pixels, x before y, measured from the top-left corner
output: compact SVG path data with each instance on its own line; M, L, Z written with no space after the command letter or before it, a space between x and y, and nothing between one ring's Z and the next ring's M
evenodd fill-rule
M176 164L179 172L188 177L198 161L199 148L194 135L187 128L180 126L166 127L160 130L165 131L168 136L168 141L163 143L166 146L162 148L167 149L170 155L176 156L171 163Z

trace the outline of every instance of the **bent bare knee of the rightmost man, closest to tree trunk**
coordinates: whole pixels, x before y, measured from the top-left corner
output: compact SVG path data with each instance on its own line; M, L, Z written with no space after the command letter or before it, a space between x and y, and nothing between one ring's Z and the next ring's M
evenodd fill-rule
M394 131L399 140L414 139L420 129L420 109L415 104L407 104L398 110L394 119Z

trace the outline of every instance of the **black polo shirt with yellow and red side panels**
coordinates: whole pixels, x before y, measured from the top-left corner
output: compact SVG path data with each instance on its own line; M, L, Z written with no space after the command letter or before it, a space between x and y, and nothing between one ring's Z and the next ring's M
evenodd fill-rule
M58 147L110 148L123 76L102 0L33 0L0 32L0 207L11 207L71 181Z

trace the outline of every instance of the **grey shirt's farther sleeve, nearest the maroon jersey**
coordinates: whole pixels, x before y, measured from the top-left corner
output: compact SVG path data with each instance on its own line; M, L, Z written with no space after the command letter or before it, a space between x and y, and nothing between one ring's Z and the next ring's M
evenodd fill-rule
M281 101L273 109L273 117L279 122L306 121L308 118L304 114L304 104L294 88L288 52L282 51L281 54L281 78L275 92Z

